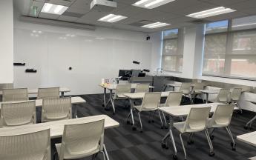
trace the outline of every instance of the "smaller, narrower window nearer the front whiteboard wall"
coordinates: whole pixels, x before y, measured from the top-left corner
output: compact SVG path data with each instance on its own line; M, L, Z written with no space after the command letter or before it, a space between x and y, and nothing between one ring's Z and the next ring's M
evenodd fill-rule
M165 71L182 72L183 52L180 30L163 31L162 68Z

